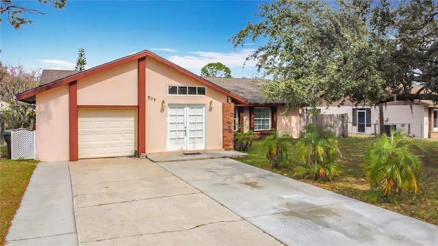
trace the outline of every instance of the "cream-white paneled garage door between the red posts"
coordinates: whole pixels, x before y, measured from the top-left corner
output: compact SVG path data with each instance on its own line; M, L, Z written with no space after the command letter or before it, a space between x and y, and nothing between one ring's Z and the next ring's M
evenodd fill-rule
M136 109L79 109L79 159L130 156Z

